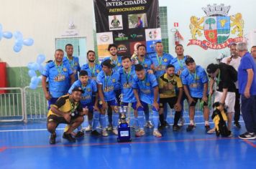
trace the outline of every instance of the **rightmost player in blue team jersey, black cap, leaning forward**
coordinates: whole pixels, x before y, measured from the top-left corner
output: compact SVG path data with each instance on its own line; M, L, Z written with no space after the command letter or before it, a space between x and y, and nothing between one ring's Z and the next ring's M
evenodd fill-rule
M195 129L194 122L195 107L198 100L200 101L201 108L204 110L204 120L206 132L211 130L209 125L209 107L208 107L208 77L203 67L196 65L192 57L185 60L187 69L184 69L180 74L184 92L188 98L189 104L189 119L190 125L187 131L190 132Z

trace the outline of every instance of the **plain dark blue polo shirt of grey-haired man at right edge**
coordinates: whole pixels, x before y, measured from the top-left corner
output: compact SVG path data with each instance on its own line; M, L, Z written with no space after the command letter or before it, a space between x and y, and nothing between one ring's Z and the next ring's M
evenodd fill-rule
M239 88L239 93L241 95L244 95L244 90L248 81L247 69L252 69L253 71L253 79L252 79L252 85L250 88L250 95L256 95L256 64L249 52L244 54L238 67L238 74L237 74L238 84L239 84L238 88Z

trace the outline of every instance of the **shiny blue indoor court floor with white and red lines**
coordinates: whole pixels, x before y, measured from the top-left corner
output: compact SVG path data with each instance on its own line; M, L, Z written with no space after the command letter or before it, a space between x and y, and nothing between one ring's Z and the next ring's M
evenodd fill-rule
M118 143L116 135L93 137L86 132L76 143L62 138L57 130L56 144L49 144L45 121L0 122L0 168L255 168L256 140L241 140L245 131L232 128L233 137L206 134L204 123L192 132L186 125L179 132L171 127L163 137L152 136L146 129L143 137ZM213 127L213 124L211 124Z

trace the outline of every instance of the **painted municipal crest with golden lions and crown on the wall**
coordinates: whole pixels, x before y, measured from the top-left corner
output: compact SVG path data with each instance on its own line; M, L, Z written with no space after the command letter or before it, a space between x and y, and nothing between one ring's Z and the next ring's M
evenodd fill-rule
M206 16L191 16L191 37L188 45L198 45L203 49L223 49L229 44L242 42L244 20L242 14L228 16L231 6L208 5L203 9ZM204 34L204 37L203 37ZM205 38L204 40L200 40Z

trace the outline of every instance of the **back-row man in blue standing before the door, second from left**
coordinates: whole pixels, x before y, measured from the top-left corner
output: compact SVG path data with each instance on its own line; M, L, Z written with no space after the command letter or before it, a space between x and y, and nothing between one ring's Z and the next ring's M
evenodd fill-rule
M63 62L68 62L70 64L70 68L72 69L75 80L78 80L78 72L80 71L80 64L78 57L73 57L73 45L66 44L65 45L65 52L67 53L67 57L63 58Z

